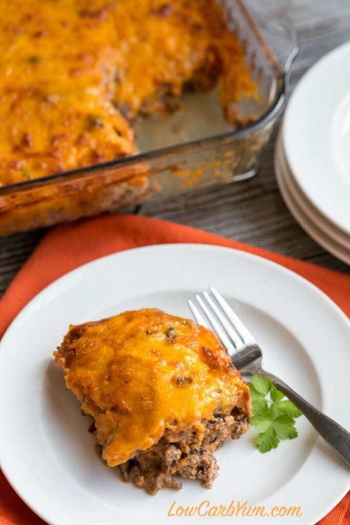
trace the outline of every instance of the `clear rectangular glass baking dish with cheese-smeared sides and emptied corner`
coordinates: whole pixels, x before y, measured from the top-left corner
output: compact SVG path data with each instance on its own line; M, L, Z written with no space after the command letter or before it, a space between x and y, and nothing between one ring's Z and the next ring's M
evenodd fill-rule
M253 176L285 102L296 45L289 31L253 19L243 0L218 0L243 44L258 97L222 116L215 90L186 93L171 116L145 119L126 159L0 188L0 235L115 211L145 199Z

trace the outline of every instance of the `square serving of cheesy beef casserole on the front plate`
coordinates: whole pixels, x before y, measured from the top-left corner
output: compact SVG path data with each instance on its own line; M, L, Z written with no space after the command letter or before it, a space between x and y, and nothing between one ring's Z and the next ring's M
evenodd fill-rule
M246 432L249 388L210 330L157 309L71 326L54 352L66 386L94 418L102 458L154 494L210 487L214 451Z

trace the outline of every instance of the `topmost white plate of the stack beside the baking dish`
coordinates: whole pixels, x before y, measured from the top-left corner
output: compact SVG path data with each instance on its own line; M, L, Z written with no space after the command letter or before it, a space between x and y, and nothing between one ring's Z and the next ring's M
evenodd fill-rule
M350 43L302 78L283 125L291 171L305 195L350 234Z

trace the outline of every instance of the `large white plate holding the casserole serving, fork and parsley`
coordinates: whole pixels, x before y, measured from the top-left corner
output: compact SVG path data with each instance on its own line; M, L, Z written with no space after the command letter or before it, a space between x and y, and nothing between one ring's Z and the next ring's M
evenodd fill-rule
M118 469L103 465L94 453L89 418L81 416L51 360L68 324L141 307L189 317L186 299L210 285L225 293L261 342L266 368L350 427L349 322L309 282L262 258L214 246L163 245L103 257L40 292L0 344L1 465L19 495L48 523L183 523L184 518L167 516L174 500L186 507L203 500L229 505L233 499L267 510L301 506L299 525L313 525L345 495L348 469L304 417L298 419L299 437L271 453L254 448L253 430L227 443L216 454L220 472L211 490L187 480L181 491L151 497L123 483ZM203 521L221 523L221 518L191 520ZM266 523L249 520L261 521Z

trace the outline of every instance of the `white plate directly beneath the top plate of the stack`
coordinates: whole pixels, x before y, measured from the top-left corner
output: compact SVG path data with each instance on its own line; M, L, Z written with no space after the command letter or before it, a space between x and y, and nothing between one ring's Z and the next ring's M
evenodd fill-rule
M283 181L288 188L291 199L301 208L304 215L321 229L327 237L334 239L336 243L343 246L346 250L350 250L350 235L327 220L327 218L315 208L312 202L307 199L306 195L302 193L301 188L298 186L298 183L296 183L287 157L285 156L281 133L277 140L275 156L283 168Z

